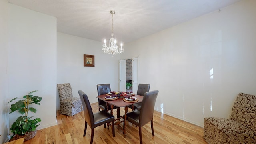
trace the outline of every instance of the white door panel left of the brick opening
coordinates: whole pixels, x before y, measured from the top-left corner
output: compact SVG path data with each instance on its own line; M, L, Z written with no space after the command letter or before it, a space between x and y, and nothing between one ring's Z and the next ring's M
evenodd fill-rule
M119 91L125 92L125 60L119 60Z

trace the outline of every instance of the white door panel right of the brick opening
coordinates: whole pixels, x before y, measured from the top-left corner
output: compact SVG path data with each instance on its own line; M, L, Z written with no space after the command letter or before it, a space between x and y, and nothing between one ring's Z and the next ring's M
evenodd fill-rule
M132 58L132 92L138 90L138 58Z

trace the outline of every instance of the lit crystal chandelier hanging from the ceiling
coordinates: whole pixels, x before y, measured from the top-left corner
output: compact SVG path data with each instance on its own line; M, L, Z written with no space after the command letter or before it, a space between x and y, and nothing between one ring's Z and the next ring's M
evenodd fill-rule
M102 52L105 52L107 54L112 54L112 56L114 56L115 54L120 54L122 52L124 52L124 49L122 48L123 43L120 44L120 49L118 49L118 46L116 44L116 39L113 38L114 37L114 33L113 33L113 14L115 14L116 12L114 10L110 10L110 14L112 14L112 32L111 32L111 38L109 40L109 44L108 46L106 45L106 39L104 39L104 44L102 46Z

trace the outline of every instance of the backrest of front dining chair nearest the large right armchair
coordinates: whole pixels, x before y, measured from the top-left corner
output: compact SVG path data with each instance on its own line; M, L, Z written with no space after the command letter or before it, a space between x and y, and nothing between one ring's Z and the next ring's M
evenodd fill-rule
M144 94L140 108L139 126L144 126L153 120L154 107L158 92L158 90L153 90Z

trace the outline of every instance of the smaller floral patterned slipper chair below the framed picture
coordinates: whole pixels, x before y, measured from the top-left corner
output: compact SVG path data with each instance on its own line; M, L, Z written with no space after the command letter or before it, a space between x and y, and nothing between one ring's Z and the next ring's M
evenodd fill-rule
M80 98L73 97L70 83L57 84L60 97L60 114L73 116L83 111L83 105Z

